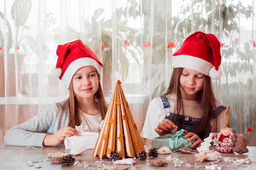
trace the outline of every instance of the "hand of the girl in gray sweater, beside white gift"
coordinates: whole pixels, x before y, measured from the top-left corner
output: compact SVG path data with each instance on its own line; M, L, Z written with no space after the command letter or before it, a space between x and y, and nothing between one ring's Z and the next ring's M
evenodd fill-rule
M65 127L58 130L52 135L46 135L43 141L43 146L57 146L65 139L65 137L74 136L77 134L76 129Z

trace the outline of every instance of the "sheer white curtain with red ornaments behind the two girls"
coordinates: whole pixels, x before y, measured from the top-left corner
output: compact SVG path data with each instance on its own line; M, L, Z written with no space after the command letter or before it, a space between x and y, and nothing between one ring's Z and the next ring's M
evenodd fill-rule
M57 77L58 44L81 39L103 62L110 101L117 80L139 132L150 100L171 77L172 54L195 31L222 42L218 101L231 106L231 128L256 145L254 0L1 0L0 144L8 128L68 93ZM15 4L13 6L13 4ZM12 6L14 8L12 8Z

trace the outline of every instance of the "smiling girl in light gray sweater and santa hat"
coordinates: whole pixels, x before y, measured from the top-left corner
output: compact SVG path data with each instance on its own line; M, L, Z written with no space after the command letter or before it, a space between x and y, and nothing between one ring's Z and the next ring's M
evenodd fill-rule
M102 63L81 40L58 45L53 74L69 89L69 97L53 104L27 122L13 126L4 136L6 145L56 146L76 135L75 126L99 132L108 104L100 84Z

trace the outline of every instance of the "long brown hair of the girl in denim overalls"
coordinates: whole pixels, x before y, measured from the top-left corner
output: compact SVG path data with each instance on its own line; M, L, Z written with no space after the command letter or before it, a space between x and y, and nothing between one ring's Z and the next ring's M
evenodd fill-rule
M184 104L182 101L182 94L180 91L180 76L182 74L183 68L173 68L173 74L168 86L168 89L164 95L175 94L177 96L177 104L174 108L175 113L178 117L178 122L180 122L180 115L184 115ZM213 110L216 108L216 98L213 93L213 88L211 84L211 78L207 75L204 76L203 88L196 94L196 100L200 104L200 114L202 115L199 127L195 130L201 139L204 139L206 129L208 129L209 122L213 118Z

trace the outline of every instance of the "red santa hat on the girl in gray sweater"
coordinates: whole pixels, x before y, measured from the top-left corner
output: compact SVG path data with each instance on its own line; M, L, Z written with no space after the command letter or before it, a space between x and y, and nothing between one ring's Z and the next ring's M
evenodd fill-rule
M101 76L102 63L94 52L81 40L58 45L56 54L58 60L56 68L52 69L52 74L59 77L67 88L76 71L84 66L94 66Z

